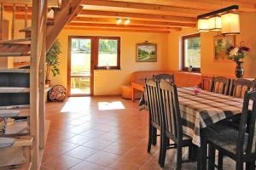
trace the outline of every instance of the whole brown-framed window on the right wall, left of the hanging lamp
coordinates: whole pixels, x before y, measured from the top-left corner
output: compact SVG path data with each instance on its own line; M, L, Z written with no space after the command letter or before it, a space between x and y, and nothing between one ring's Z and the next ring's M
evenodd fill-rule
M189 71L189 66L193 67L192 71L201 71L201 38L200 34L193 34L183 37L183 71Z

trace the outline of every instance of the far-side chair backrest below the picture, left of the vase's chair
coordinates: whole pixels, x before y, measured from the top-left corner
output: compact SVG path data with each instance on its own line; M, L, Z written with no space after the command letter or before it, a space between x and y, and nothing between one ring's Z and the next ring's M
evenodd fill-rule
M226 77L212 77L211 92L215 94L229 94L230 79Z

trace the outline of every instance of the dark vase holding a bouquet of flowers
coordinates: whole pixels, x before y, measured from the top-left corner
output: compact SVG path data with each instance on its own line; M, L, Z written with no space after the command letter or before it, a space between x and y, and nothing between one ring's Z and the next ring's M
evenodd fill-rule
M243 42L239 43L239 46L231 46L227 48L227 54L229 54L229 59L233 59L236 62L236 78L242 78L244 71L242 68L243 61L247 52L250 51L250 48L247 48L243 45Z

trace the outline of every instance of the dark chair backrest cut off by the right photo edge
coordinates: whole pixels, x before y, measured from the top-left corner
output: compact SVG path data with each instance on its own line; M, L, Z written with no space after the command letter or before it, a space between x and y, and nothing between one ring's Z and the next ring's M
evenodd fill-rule
M251 103L250 103L251 102ZM252 105L252 110L250 110ZM241 122L239 127L238 140L236 144L237 156L244 154L244 145L246 145L246 154L256 154L256 91L246 92L241 112ZM247 132L247 137L245 137ZM245 140L247 139L247 140ZM245 144L247 142L247 144Z

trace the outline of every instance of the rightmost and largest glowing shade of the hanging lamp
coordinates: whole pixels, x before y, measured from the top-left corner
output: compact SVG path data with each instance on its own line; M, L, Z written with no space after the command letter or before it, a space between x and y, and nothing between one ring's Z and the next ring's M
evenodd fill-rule
M227 13L221 15L222 34L239 34L240 20L239 14Z

